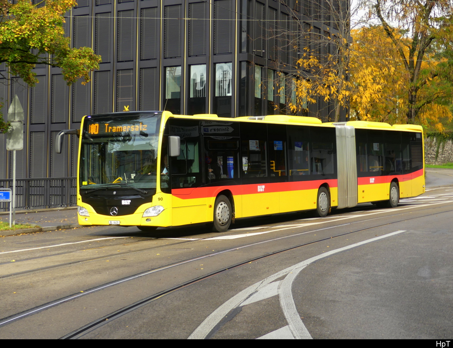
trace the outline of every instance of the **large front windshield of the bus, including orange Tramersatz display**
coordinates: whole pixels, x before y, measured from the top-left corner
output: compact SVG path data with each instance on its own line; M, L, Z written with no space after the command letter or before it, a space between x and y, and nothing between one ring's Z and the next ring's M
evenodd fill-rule
M87 116L80 151L81 189L155 189L161 113ZM154 190L155 191L155 190Z

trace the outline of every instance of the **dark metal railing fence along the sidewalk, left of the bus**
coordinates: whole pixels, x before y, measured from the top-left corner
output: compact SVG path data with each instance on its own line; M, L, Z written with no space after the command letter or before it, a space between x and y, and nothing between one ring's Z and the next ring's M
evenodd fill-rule
M0 188L12 189L13 179L0 179ZM0 211L10 203L0 202ZM58 208L77 205L75 177L16 179L16 209Z

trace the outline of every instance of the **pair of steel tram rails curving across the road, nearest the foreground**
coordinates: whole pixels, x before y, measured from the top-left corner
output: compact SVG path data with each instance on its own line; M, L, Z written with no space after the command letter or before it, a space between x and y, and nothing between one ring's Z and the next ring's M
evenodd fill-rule
M417 210L417 212L420 213L422 211L431 210L431 209L432 208L426 208L426 209L422 209L422 210ZM176 286L169 287L166 290L159 291L159 292L157 292L157 293L155 293L155 294L153 294L151 296L147 296L147 297L145 297L145 298L143 298L143 299L141 299L139 301L134 302L131 305L124 306L123 308L121 308L119 310L116 310L116 311L112 312L109 315L105 315L105 316L101 317L100 319L97 319L97 320L91 322L90 324L84 325L80 329L77 329L77 330L73 331L72 333L63 336L62 338L79 338L82 335L87 334L88 332L91 332L92 330L98 328L99 326L101 326L102 324L104 324L107 321L111 321L112 319L119 318L121 315L124 315L124 314L126 314L126 313L128 313L130 311L133 311L133 310L139 308L142 305L146 305L146 304L148 304L148 303L150 303L150 302L152 302L152 301L154 301L156 299L159 299L162 296L168 295L168 294L170 294L170 293L172 293L174 291L178 291L178 289L181 289L184 286L188 286L188 285L191 285L191 284L196 283L198 281L202 281L203 279L207 279L209 277L212 277L212 276L215 276L215 275L218 275L218 274L222 274L223 272L226 272L227 270L230 270L230 269L236 268L236 267L241 267L241 266L246 265L246 264L248 264L250 262L258 261L260 259L264 259L266 257L273 256L273 255L276 255L278 253L284 253L286 251L289 251L289 250L292 250L292 249L295 249L295 248L300 248L300 247L303 247L303 246L308 245L308 244L318 243L318 242L325 241L325 240L328 240L328 239L331 239L331 238L337 238L337 237L341 237L341 236L348 235L348 234L354 234L354 233L361 232L361 231L368 230L368 229L373 229L373 228L382 227L382 226L386 226L386 225L390 225L390 224L400 223L402 221L407 221L407 220L411 220L411 219L419 219L419 218L423 218L423 217L426 217L426 216L443 214L443 213L447 213L447 212L451 212L451 211L452 211L452 209L443 209L441 211L436 211L436 212L430 213L430 214L417 215L417 216L412 216L412 217L405 217L405 215L408 215L408 214L413 212L413 211L407 211L407 212L405 212L403 214L400 213L400 214L397 214L397 215L393 215L393 217L400 217L399 219L397 219L395 221L386 222L384 224L372 224L371 226L366 226L366 227L360 228L360 229L354 229L352 231L348 231L348 232L345 232L345 233L331 235L331 236L326 237L326 238L318 238L318 239L314 239L314 240L311 240L311 241L305 242L305 243L297 243L295 245L292 245L291 247L282 248L282 249L276 250L276 251L274 251L272 253L264 253L264 254L262 254L260 256L257 256L257 257L252 257L252 258L249 258L247 260L242 260L241 262L230 264L230 265L228 265L226 267L219 268L219 269L214 270L212 272L206 273L206 274L204 274L202 276L195 277L195 278L193 278L193 279L191 279L189 281L182 282L182 283L180 283L180 284L178 284ZM23 318L28 317L30 315L34 315L36 313L39 313L39 312L41 312L43 310L46 310L46 309L49 309L51 307L55 307L55 306L58 306L60 304L65 303L65 302L80 298L81 296L86 296L86 295L92 294L93 292L100 291L100 290L103 290L103 289L106 289L106 288L110 288L112 286L115 286L115 285L130 281L130 280L133 280L133 279L137 279L139 277L147 276L147 275L152 274L152 273L161 272L161 271L164 271L164 270L168 270L169 268L173 268L173 267L178 267L178 266L181 266L181 265L186 264L188 262L198 261L198 260L201 260L203 258L212 257L212 256L216 256L216 255L219 255L219 254L236 251L236 250L241 249L241 248L249 248L249 247L256 246L256 245L263 244L263 243L275 242L275 241L282 240L282 239L285 239L285 238L298 237L298 236L303 235L303 234L319 232L319 231L333 229L333 228L338 228L338 227L347 226L347 225L352 225L352 224L357 224L357 223L364 223L364 222L370 222L370 221L376 221L377 219L381 219L381 217L373 217L371 219L365 219L365 220L359 220L359 221L351 221L351 222L347 222L346 224L340 224L340 225L335 225L335 226L327 226L327 227L323 227L321 229L314 229L314 230L310 230L310 231L305 231L305 232L295 233L295 234L289 234L289 235L280 236L280 237L276 237L276 238L275 237L274 238L267 238L265 240L258 241L258 242L255 242L255 243L248 243L248 244L244 244L242 246L236 246L234 248L228 248L228 249L225 249L225 250L220 250L220 251L217 251L215 253L207 253L207 254L201 255L199 257L189 258L187 260L183 260L183 261L180 261L180 262L175 262L173 264L169 264L169 265L166 265L166 266L158 267L158 268L153 269L153 270L149 270L149 271L146 271L146 272L140 272L140 273L137 273L135 275L127 276L127 277L118 279L116 281L111 281L111 282L105 283L105 284L100 285L100 286L95 286L95 287L93 287L91 289L88 289L88 290L85 290L83 292L79 292L79 293L76 293L76 294L72 294L70 296L65 296L65 297L60 298L58 300L53 300L53 301L47 302L47 303L45 303L43 305L36 306L34 308L22 311L22 312L20 312L18 314L15 314L15 315L10 315L10 316L0 320L0 327L8 325L8 324L11 324L11 323L13 323L13 322L15 322L17 320L23 319ZM289 227L288 229L290 229L290 228L294 228L294 227ZM180 243L172 243L171 245L188 243L188 242L189 241L185 240L185 241L180 242ZM160 247L162 247L162 246L160 246Z

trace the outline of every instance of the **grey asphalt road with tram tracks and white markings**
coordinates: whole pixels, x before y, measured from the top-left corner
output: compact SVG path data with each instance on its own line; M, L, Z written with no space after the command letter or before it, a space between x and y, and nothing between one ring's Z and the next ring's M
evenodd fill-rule
M453 171L427 172L429 191L395 209L254 219L223 234L1 238L0 338L60 338L104 316L76 337L451 338Z

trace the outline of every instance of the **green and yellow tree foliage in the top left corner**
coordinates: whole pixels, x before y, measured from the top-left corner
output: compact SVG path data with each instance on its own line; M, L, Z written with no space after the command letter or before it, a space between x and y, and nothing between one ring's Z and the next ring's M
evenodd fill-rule
M64 36L63 14L75 0L0 0L0 63L5 62L10 76L20 76L29 86L38 80L32 69L36 64L60 67L68 85L82 78L90 81L90 72L99 68L101 57L91 48L71 48ZM4 76L7 77L7 76ZM7 124L0 115L0 131Z

